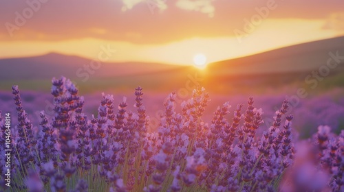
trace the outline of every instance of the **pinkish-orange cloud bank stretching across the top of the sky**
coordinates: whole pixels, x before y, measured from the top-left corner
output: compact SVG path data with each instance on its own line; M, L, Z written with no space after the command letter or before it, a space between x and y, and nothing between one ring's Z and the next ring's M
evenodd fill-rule
M171 43L193 37L233 37L233 30L241 29L244 19L250 19L257 14L255 8L266 5L267 1L47 1L41 4L41 8L34 12L30 19L26 19L25 25L14 30L13 36L9 35L5 25L0 26L0 40L56 41L97 38L147 44ZM268 19L325 20L331 14L343 12L344 7L344 1L338 0L275 1L278 6L269 14ZM25 2L1 3L0 23L17 25L17 15L23 15L23 10L30 9L30 5ZM161 14L151 14L150 8L156 13L164 10ZM336 27L338 21L332 19L325 28ZM140 35L133 35L133 32Z

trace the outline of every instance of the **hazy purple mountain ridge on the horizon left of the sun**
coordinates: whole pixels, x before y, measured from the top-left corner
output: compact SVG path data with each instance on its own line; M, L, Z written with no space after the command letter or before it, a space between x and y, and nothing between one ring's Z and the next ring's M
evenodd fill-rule
M83 80L87 75L120 77L182 68L179 65L144 62L93 62L87 58L65 56L58 53L28 58L1 59L0 67L0 80L39 80L61 75Z

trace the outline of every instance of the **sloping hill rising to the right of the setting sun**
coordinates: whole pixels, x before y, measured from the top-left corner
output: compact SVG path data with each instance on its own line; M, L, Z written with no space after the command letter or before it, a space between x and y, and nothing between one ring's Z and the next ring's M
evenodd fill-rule
M330 52L337 51L339 56L344 56L344 36L215 62L208 70L217 75L312 71L326 64Z

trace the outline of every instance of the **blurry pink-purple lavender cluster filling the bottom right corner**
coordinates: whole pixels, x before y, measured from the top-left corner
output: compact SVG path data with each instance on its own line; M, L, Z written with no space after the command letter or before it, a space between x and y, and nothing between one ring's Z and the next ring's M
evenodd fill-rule
M292 168L283 191L344 191L344 130L336 136L319 126L312 139L297 143Z

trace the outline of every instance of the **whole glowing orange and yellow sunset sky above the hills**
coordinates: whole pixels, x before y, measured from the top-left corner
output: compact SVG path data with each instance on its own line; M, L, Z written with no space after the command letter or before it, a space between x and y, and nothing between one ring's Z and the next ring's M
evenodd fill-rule
M49 52L192 64L344 35L338 0L0 0L0 58ZM248 24L250 22L250 24Z

